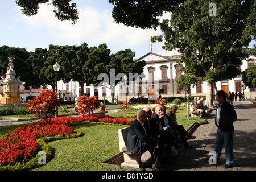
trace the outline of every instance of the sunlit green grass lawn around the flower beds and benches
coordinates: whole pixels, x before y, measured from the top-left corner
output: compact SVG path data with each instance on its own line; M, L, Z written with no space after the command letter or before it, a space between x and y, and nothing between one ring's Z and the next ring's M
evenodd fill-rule
M134 116L137 111L127 110L109 114L113 117ZM198 117L187 121L187 109L177 110L177 122L185 127L190 126ZM135 118L132 118L135 119ZM24 125L9 125L0 129L0 136L13 131L16 127L24 127ZM97 125L86 123L73 126L73 129L79 129L85 133L83 137L56 140L50 142L56 150L55 158L46 165L34 169L38 171L67 171L67 170L93 170L93 171L113 171L126 170L119 166L110 166L101 163L103 160L119 152L118 130L125 126L114 125Z

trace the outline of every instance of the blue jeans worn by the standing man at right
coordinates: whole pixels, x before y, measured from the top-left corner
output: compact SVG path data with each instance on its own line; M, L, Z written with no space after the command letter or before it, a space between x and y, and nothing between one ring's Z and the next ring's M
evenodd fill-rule
M216 134L215 149L214 149L217 156L217 162L220 159L221 150L224 142L226 144L226 148L225 148L226 164L230 165L234 163L233 131L221 132L220 129L218 129Z

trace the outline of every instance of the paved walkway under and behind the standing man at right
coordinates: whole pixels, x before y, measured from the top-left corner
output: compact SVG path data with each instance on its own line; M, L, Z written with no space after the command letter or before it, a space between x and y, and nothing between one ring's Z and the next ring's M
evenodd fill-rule
M217 127L216 110L207 118L208 124L200 125L189 140L192 148L181 148L180 156L168 159L163 170L181 171L255 171L256 170L256 106L249 101L234 101L237 121L234 122L234 167L224 169L225 144L217 165L210 165L205 157L214 150Z

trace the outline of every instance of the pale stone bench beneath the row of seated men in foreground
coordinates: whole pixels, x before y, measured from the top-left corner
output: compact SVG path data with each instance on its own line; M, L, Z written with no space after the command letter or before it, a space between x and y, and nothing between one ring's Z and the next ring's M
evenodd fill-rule
M143 168L144 162L142 162L142 155L144 155L146 152L144 154L133 154L127 151L126 147L128 130L129 126L118 130L119 150L123 153L123 163L121 164L121 166L130 168ZM151 155L148 154L146 154L145 156L147 159L144 160L148 160L149 156L151 157Z

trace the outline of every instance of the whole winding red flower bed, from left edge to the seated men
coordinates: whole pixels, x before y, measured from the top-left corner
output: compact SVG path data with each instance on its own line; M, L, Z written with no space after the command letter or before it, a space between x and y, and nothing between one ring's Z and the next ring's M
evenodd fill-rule
M133 121L126 118L109 118L103 115L82 115L81 117L57 117L51 121L38 121L25 128L19 127L13 133L5 134L0 140L0 166L27 162L38 153L39 143L37 139L61 135L63 137L73 134L71 127L81 122L104 122L121 125L130 125Z

